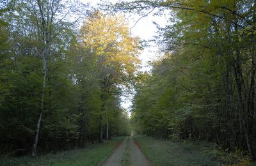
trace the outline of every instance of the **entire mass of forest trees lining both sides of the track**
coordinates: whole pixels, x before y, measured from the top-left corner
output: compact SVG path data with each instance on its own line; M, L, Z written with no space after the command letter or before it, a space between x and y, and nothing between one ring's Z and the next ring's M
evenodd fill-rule
M108 15L75 0L0 7L0 153L84 147L132 128L255 159L255 0L100 4ZM151 71L141 72L141 41L120 12L169 13L166 26L154 22L164 56Z

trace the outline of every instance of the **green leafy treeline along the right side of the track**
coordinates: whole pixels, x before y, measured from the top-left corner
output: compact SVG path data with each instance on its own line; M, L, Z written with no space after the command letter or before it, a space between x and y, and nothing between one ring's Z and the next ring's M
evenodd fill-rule
M255 1L136 1L122 10L170 10L165 55L136 86L138 132L256 148Z

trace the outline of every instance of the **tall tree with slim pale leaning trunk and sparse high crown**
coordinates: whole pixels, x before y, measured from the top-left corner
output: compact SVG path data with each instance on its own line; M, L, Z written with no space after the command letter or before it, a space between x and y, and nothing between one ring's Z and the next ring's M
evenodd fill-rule
M42 121L42 112L44 112L45 102L45 87L47 84L47 62L51 56L52 44L54 40L61 35L61 32L68 29L77 22L68 20L70 14L76 5L71 2L63 2L60 0L37 0L37 1L17 1L17 13L14 13L17 18L24 17L24 21L28 21L27 25L23 25L24 32L30 33L33 39L38 43L36 47L36 54L42 57L42 93L41 106L38 110L38 121L36 123L35 140L33 144L32 155L36 153L38 144L38 135L40 132L40 124ZM68 8L68 9L67 9ZM18 20L22 22L22 20ZM27 27L25 27L27 26Z

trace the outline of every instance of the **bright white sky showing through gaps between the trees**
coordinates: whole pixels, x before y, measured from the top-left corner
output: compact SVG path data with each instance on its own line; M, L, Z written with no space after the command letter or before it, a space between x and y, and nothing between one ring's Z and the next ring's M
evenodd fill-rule
M100 0L83 0L86 3L90 3L91 6L97 6L97 3L100 3ZM109 2L111 3L116 3L116 0L109 0ZM127 18L127 20L129 20L129 27L131 29L131 34L134 36L139 36L141 40L153 40L154 39L154 35L156 35L157 33L157 28L156 25L154 25L152 22L157 22L157 24L159 24L160 26L164 26L167 22L166 17L164 16L153 16L153 13L150 13L147 17L143 17L142 19L140 19L140 15L134 15L132 13L127 13L125 14L125 18ZM129 19L128 19L129 18ZM136 21L140 19L137 23ZM136 25L134 26L134 24L136 23ZM134 26L134 27L133 27ZM157 46L155 43L150 43L150 47L145 48L139 58L141 59L141 63L142 63L142 70L148 71L150 70L150 66L148 66L147 62L148 61L154 61L154 59L156 59L157 57L159 57L160 53L158 52ZM122 102L121 105L124 109L129 110L129 107L131 107L132 103L132 95L129 96L121 96ZM129 116L131 114L129 113Z

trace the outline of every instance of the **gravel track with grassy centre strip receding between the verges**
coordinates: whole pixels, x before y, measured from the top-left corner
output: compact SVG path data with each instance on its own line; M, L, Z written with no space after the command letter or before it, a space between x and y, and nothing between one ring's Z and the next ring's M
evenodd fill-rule
M140 146L132 137L126 137L124 141L116 147L112 155L103 164L104 166L116 165L150 165L150 162L141 153Z

